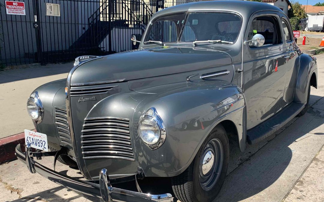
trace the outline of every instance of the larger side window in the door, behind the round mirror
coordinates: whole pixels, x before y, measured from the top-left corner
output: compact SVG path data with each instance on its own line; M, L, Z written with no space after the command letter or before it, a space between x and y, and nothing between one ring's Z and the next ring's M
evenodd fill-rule
M263 35L265 41L262 47L280 44L281 31L278 20L272 16L260 16L253 19L249 29L248 40L251 40L255 34ZM249 47L254 47L249 42Z

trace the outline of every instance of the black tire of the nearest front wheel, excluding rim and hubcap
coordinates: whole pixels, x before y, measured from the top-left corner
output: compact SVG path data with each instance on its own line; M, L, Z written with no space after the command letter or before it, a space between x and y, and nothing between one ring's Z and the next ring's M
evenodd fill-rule
M218 139L222 144L223 149L223 164L220 168L221 172L218 175L215 184L209 190L204 190L200 183L200 166L202 155L205 154L206 145L211 140ZM171 185L175 196L181 202L210 202L218 195L227 172L229 161L229 143L228 137L223 126L216 126L203 142L201 148L196 154L191 165L180 175L171 178ZM216 164L214 164L216 165ZM217 167L217 166L216 166Z

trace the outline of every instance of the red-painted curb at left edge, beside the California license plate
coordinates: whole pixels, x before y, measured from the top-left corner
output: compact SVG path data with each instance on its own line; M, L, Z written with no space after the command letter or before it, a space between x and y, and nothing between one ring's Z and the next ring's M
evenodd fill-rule
M36 131L36 129L33 131ZM17 144L25 145L25 133L19 133L0 139L0 164L17 159L15 155ZM22 147L22 149L23 148L24 147Z

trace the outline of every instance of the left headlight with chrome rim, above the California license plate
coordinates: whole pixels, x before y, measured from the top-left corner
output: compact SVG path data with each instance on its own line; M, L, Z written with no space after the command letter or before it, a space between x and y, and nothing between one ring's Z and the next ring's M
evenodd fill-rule
M27 112L37 124L43 120L44 108L40 98L38 97L37 91L31 93L29 99L27 100Z

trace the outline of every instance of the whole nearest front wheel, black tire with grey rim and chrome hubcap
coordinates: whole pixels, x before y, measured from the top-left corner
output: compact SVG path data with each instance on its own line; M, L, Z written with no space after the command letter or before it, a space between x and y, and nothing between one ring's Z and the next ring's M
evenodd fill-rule
M216 126L204 141L191 165L171 178L172 189L181 202L210 202L219 193L229 161L228 137Z

